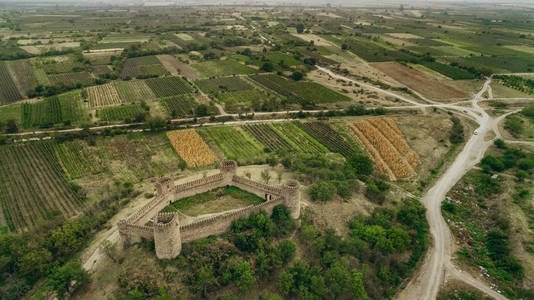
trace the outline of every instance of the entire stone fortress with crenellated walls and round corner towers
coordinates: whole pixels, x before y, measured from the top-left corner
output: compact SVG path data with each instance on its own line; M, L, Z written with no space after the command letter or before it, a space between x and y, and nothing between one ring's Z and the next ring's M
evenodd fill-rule
M221 162L220 173L180 185L174 185L169 178L156 183L156 197L129 218L119 221L119 234L124 246L140 242L142 238L154 240L156 256L172 259L180 254L182 243L224 233L232 222L248 218L251 213L264 210L269 214L275 206L283 204L297 219L300 215L300 184L288 180L281 186L272 186L237 176L237 163L233 160ZM235 186L265 199L258 205L250 205L180 225L178 214L160 213L167 205L184 197L193 196L224 186ZM145 225L152 222L152 225Z

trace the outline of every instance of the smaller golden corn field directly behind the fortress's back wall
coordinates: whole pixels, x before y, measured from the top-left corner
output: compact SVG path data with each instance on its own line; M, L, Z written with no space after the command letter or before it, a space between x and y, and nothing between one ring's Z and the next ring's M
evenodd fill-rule
M216 160L215 154L194 129L170 131L167 137L188 167L207 166Z

